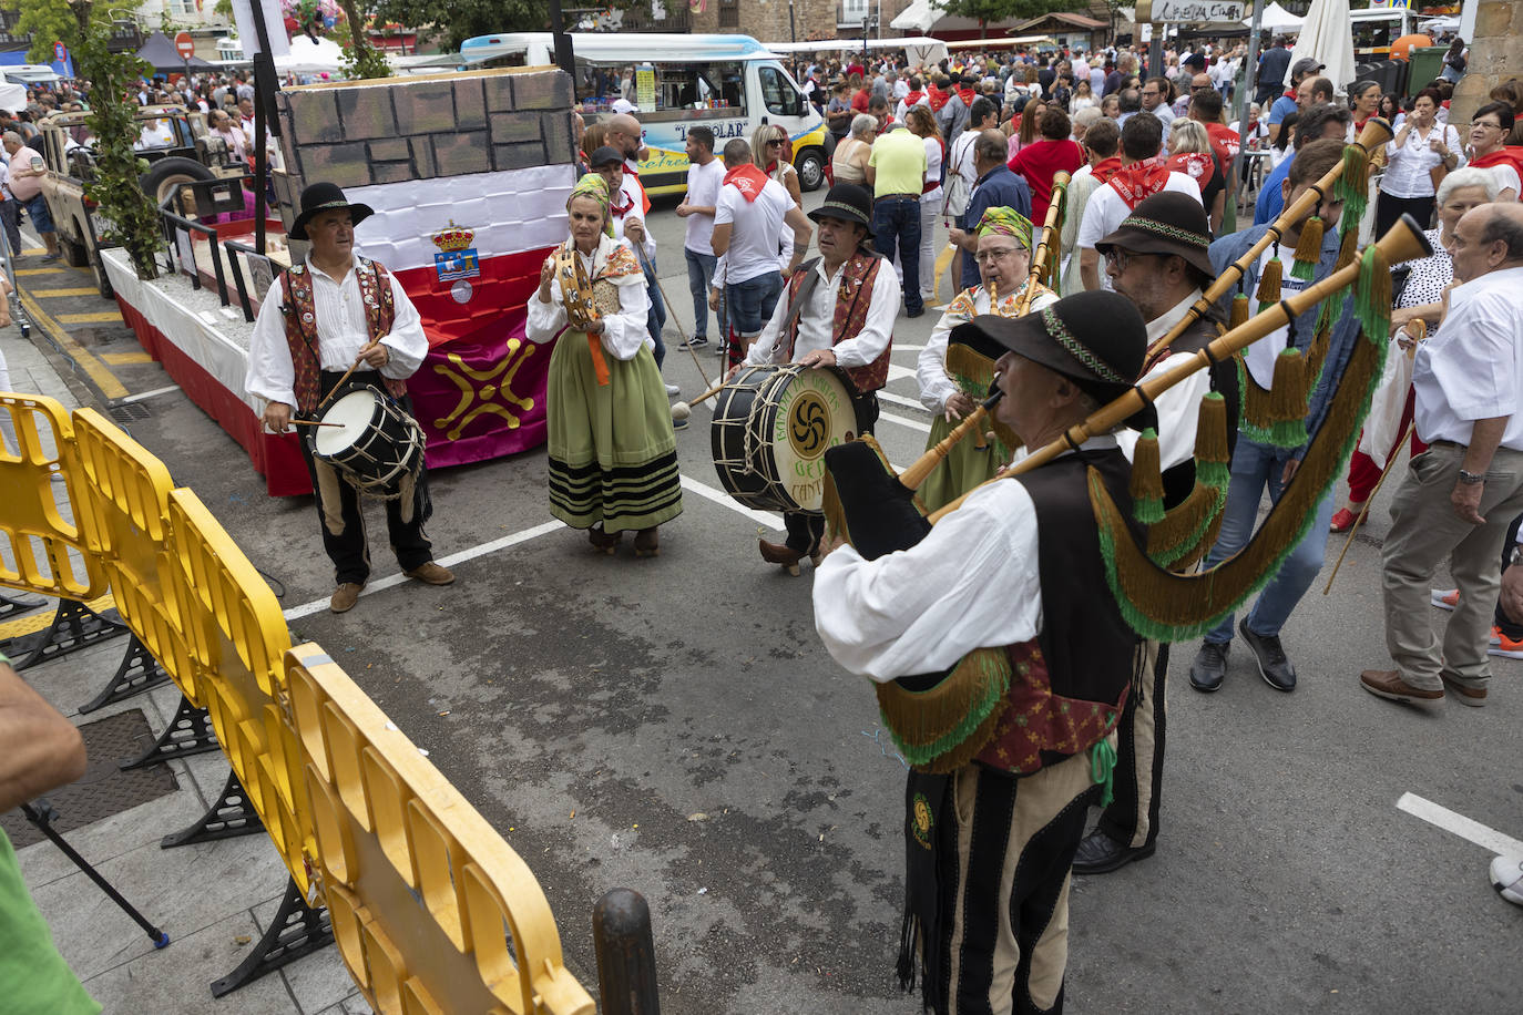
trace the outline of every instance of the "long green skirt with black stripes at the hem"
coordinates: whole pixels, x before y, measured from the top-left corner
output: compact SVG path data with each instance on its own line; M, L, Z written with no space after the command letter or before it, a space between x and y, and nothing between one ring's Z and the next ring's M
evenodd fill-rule
M649 347L634 359L605 350L597 383L585 332L565 332L550 356L550 513L571 528L641 530L682 513L676 434Z

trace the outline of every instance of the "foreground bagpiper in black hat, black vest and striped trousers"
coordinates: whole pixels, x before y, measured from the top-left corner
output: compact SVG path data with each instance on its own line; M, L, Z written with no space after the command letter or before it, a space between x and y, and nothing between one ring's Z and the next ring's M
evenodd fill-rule
M1028 447L1125 393L1147 344L1136 307L1113 292L978 317L953 341L998 355L996 415ZM867 560L833 543L815 577L825 648L851 673L900 680L888 694L946 679L955 689L946 671L976 650L1010 660L1002 711L970 712L975 729L938 755L969 761L908 778L899 974L908 986L918 962L938 1015L1063 1004L1069 866L1141 650L1106 584L1089 470L1130 519L1130 467L1103 434L979 487L908 549Z

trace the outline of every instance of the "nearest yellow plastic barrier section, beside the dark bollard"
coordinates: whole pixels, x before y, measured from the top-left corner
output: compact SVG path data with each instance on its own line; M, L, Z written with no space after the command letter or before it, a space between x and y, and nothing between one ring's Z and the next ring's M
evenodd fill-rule
M592 1015L519 855L321 647L286 653L286 676L318 884L366 1000Z

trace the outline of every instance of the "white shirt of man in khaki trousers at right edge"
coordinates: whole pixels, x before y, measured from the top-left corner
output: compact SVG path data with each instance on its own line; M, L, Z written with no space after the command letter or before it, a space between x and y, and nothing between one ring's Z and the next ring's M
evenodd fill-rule
M1511 417L1502 447L1523 450L1523 268L1491 271L1448 294L1444 326L1412 362L1418 437L1470 444L1476 420Z

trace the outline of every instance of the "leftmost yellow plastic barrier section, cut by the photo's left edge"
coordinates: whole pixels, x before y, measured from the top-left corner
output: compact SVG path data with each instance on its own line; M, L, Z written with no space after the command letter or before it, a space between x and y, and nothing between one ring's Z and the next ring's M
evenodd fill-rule
M99 598L110 580L79 530L82 476L69 412L53 399L0 393L0 586Z

